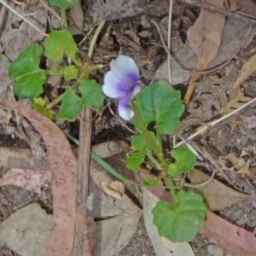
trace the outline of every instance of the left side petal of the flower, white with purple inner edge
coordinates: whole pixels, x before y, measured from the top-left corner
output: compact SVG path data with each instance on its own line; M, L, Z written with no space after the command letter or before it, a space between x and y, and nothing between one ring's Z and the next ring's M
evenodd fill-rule
M106 73L104 84L102 86L103 93L111 98L124 97L130 94L131 86L126 79L120 78L112 70Z

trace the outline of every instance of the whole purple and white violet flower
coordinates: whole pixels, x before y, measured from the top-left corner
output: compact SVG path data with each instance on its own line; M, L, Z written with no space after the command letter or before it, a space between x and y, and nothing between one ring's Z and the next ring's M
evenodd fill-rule
M119 115L122 119L131 120L134 112L129 103L141 89L139 70L135 62L125 55L119 55L109 66L102 91L110 98L120 98Z

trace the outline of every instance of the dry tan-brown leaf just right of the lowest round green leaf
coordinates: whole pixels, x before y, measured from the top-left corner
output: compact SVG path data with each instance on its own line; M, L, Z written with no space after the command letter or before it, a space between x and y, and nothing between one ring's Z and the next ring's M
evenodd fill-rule
M210 176L195 168L193 171L188 172L187 176L193 184L204 183L210 178ZM209 183L195 189L193 188L192 190L204 196L211 211L218 211L219 209L235 204L237 201L251 198L250 195L236 192L234 189L230 189L214 178Z

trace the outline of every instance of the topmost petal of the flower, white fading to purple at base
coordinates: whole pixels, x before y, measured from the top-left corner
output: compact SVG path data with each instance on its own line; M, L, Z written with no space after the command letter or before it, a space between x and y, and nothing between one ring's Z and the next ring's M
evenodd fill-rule
M120 78L126 79L131 86L137 84L140 79L140 73L135 62L128 56L119 55L116 60L112 60L109 64L113 73Z

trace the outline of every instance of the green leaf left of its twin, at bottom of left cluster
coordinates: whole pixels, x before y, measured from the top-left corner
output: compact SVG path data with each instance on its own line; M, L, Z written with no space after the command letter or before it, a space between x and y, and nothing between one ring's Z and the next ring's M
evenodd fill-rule
M77 96L71 88L67 88L62 98L61 109L58 114L58 118L72 121L79 116L82 110L82 99Z

